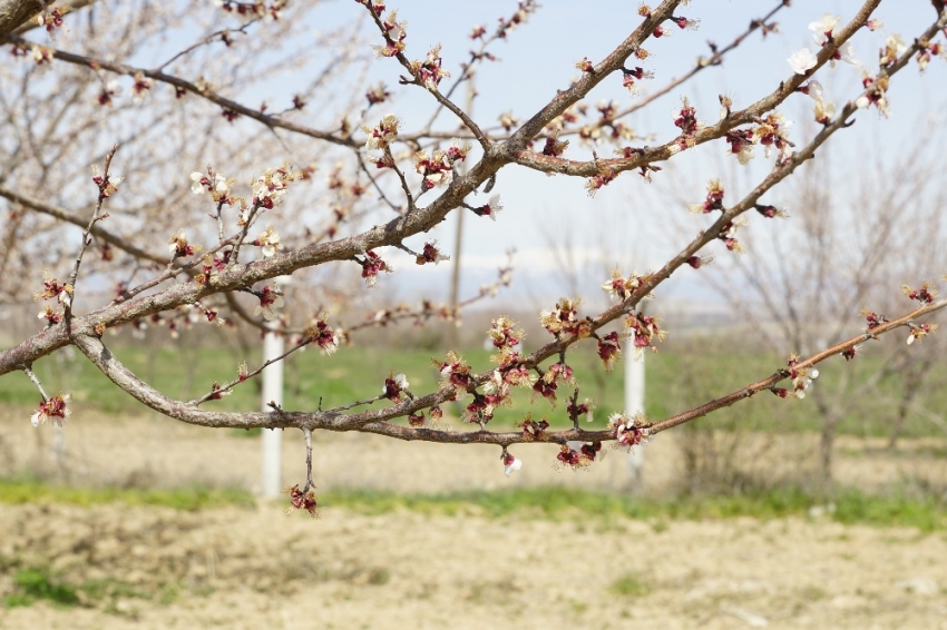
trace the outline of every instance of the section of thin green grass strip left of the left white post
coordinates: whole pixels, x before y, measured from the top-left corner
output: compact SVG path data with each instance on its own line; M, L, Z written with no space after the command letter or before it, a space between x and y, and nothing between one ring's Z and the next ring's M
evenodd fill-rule
M189 485L172 490L125 488L74 488L36 480L0 480L0 503L69 503L74 505L160 505L194 512L237 505L252 508L253 495L244 490Z

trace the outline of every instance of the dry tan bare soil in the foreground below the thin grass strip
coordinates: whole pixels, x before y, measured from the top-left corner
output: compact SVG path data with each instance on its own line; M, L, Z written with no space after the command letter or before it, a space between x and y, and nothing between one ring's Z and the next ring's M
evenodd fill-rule
M907 530L26 505L0 531L4 557L121 584L10 629L947 628L947 541Z

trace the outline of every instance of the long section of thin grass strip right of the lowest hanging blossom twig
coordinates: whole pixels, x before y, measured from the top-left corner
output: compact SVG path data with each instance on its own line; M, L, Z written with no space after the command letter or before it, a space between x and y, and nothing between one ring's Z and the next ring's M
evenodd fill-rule
M780 519L807 516L809 508L831 501L836 510L826 518L846 524L908 526L929 532L947 526L947 505L934 498L904 493L871 496L846 489L831 498L799 488L782 488L740 495L681 495L634 499L622 494L563 488L505 491L467 491L448 494L396 494L368 490L336 490L320 495L323 508L345 508L364 514L410 510L422 514L486 518L519 515L553 520L627 518L662 523L665 520Z

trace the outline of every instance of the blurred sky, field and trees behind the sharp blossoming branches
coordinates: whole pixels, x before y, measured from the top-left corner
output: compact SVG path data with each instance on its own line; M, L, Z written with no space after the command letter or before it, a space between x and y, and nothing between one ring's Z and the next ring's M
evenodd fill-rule
M588 3L582 11L547 4L497 42L499 62L475 76L472 114L497 131L499 116L527 118L569 85L576 60L606 55L637 20L636 7L625 3ZM651 45L656 77L638 98L709 55L704 40L729 43L780 3L771 4L682 8L702 20L701 30ZM721 67L629 116L638 141L676 134L672 111L681 96L712 122L719 93L735 107L768 93L790 71L789 53L813 48L809 22L824 11L847 20L859 7L797 1L783 8L772 18L778 32L753 33ZM472 27L508 18L517 4L400 9L409 57L440 41L445 67L456 72ZM885 29L853 41L868 68L888 35L910 41L934 20L920 0L882 2L879 11ZM292 4L280 20L246 32L233 14L189 3L101 2L78 8L66 24L55 40L38 30L21 35L153 68L230 24L233 47L197 48L166 71L207 81L247 107L265 101L315 128L343 118L371 125L393 111L411 130L432 112L421 90L397 85L391 60L371 57L373 27L352 2ZM901 72L892 81L890 119L860 112L852 130L765 198L787 219L754 216L741 230L743 254L721 245L707 252L712 264L683 268L647 302L647 313L670 331L658 352L644 357L650 420L760 381L792 353L855 336L865 327L861 308L900 315L911 307L901 285L943 275L945 73L939 59L926 75ZM860 79L857 67L842 63L819 76L839 104L859 93ZM391 100L367 107L364 89L379 81ZM208 164L241 181L284 160L316 169L272 214L287 248L324 238L330 228L352 234L393 216L371 196L338 185L365 183L345 151L246 118L230 124L217 106L178 101L167 86L133 98L141 95L131 83L66 63L11 57L0 65L2 348L39 331L32 294L41 269L64 277L80 234L3 190L85 216L95 194L88 165L116 141L116 170L127 179L110 200L108 228L162 255L180 227L195 242L213 239L216 223L191 195L188 177ZM596 100L629 102L613 83L589 100L589 124ZM104 107L99 97L109 90L114 101ZM294 95L311 106L293 110ZM817 132L811 107L798 95L784 108L797 121L798 142ZM456 128L446 116L432 120L435 130ZM605 155L612 147L574 138L570 157L590 157L593 149ZM538 347L548 339L540 309L560 297L580 297L583 314L603 309L608 297L598 287L613 267L625 275L653 270L710 225L687 213L703 200L707 179L720 178L726 201L734 201L772 166L762 155L740 166L723 152L699 147L650 184L628 173L594 198L578 180L505 170L495 190L505 205L497 223L468 215L458 226L451 215L429 235L452 255L449 263L416 266L392 253L396 272L372 291L354 265L294 274L284 323L326 313L333 326L353 333L332 356L310 348L284 362L284 407L365 400L391 373L406 374L412 392L431 391L439 378L431 360L451 348L475 371L487 370L487 331L499 315L526 331L527 351ZM381 186L398 190L392 181ZM84 267L80 311L109 299L117 283L153 273L96 247ZM457 301L492 293L480 287L496 282L514 249L509 286L459 318L439 316ZM424 301L430 316L390 321ZM176 313L107 339L144 381L191 400L212 382L233 378L241 363L252 368L262 361L257 327L238 317L226 328L198 319ZM64 427L35 429L33 385L21 374L0 380L0 628L947 628L947 569L939 562L947 551L945 347L938 335L910 346L906 336L867 342L850 362L826 362L806 400L759 394L660 434L635 460L606 446L607 456L575 472L556 470L556 446L511 447L524 466L507 478L496 447L319 433L314 521L285 516L286 498L261 496L260 431L207 430L154 414L65 348L33 366L50 393L72 395ZM606 373L594 348L579 346L568 363L582 395L596 401L586 426L604 427L611 413L626 408L624 358ZM213 404L258 408L260 383ZM520 396L497 411L490 429L516 430L526 414L564 427L565 404ZM442 426L470 429L462 410L443 411ZM283 485L302 484L302 435L286 431L282 442Z

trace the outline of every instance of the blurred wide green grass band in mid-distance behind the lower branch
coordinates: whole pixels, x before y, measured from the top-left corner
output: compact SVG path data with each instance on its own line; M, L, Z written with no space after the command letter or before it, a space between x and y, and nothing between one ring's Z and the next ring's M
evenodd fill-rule
M721 339L686 339L677 345L670 341L663 344L660 353L647 355L646 413L650 419L660 420L692 408L759 381L785 365L785 357L782 356L739 347L728 348L721 344ZM192 400L206 393L214 381L224 383L234 378L241 362L246 361L252 367L260 360L258 356L246 356L233 348L201 348L193 342L153 350L116 345L113 352L146 382L180 400ZM490 354L484 350L462 353L478 372L492 366ZM432 357L441 358L442 355L430 350L353 346L326 356L309 348L286 362L284 407L315 410L322 400L322 407L329 408L365 400L381 392L390 372L404 373L412 392L430 392L438 382L437 371L430 364ZM601 427L609 413L624 408L622 362L612 374L604 373L593 344L572 352L568 361L582 385L580 395L594 397L598 403L596 422L587 426ZM836 390L845 371L850 371L850 382L857 384L868 377L877 367L877 362L875 355L866 352L865 356L850 364L839 358L820 366L821 375L814 387L850 401L848 414L838 426L840 434L887 435L890 431L900 387L901 376L898 373L882 380L871 396L856 397L850 392ZM38 361L33 370L47 391L72 393L77 407L89 405L109 414L139 413L144 408L81 357L68 361L59 356L46 357ZM937 370L939 372L933 375L934 380L941 378L940 373L947 371L947 366L938 366ZM510 427L526 413L531 413L537 419L547 417L554 427L566 426L565 398L570 394L570 388L563 386L559 392L559 404L554 408L541 398L530 403L530 392L518 391L514 405L497 410L492 424ZM947 387L935 387L916 402L931 410L947 408ZM38 404L36 388L26 376L9 374L0 378L0 405L3 404L35 407ZM388 401L378 402L372 408L389 404ZM205 403L206 408L222 411L256 410L258 406L255 381L240 385L233 395ZM451 404L445 406L456 414L459 411ZM811 432L820 429L813 401L781 400L767 392L731 408L715 412L709 420L699 421L699 424L768 432ZM902 435L943 436L943 432L924 417L909 416Z

